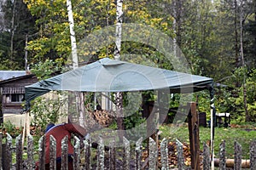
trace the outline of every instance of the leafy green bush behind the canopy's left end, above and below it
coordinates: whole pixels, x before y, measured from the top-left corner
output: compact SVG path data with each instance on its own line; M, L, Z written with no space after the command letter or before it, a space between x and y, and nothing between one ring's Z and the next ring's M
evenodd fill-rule
M44 80L52 77L56 72L61 72L63 68L62 64L62 59L55 59L55 61L46 59L44 62L39 62L37 65L34 65L32 73L36 74L39 80ZM65 100L61 99L59 92L55 92L51 96L45 94L33 100L30 110L33 116L32 123L41 127L37 133L43 133L44 128L49 122L55 123L61 116L67 116L66 114L60 113L60 108L64 103Z

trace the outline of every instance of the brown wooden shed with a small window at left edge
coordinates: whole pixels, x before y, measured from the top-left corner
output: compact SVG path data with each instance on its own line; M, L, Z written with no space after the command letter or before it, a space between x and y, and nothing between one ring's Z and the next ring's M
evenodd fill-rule
M35 82L38 82L38 78L33 74L11 77L0 81L0 123L3 122L4 114L20 114L23 109L25 86Z

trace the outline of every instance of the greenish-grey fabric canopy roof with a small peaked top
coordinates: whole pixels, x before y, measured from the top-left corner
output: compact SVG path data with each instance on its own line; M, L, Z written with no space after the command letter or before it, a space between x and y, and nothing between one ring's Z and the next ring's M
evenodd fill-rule
M131 92L169 88L170 93L193 93L211 88L212 83L208 77L104 58L26 86L25 99L29 103L52 90Z

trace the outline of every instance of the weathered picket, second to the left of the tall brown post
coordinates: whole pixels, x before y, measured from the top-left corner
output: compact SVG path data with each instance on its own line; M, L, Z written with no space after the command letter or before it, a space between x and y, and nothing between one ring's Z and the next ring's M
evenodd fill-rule
M168 170L169 163L168 163L168 147L167 147L167 139L164 138L160 143L160 153L161 153L161 169Z

